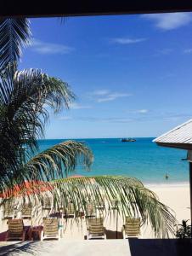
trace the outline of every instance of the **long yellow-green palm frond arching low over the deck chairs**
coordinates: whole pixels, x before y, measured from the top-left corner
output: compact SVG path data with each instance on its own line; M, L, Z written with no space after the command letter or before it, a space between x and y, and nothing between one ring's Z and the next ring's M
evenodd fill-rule
M86 204L93 201L95 205L100 201L107 202L108 209L112 201L118 201L117 211L122 217L141 218L143 224L150 224L155 236L168 237L174 234L176 218L172 210L162 204L157 195L144 187L138 179L121 176L99 177L68 177L55 180L55 201L62 201L64 205L72 202L76 212L80 209L86 212Z

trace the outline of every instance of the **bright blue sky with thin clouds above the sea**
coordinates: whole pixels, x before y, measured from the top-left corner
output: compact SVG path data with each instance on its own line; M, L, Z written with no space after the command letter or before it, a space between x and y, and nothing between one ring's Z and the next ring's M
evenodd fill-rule
M31 19L20 69L76 94L46 138L157 137L191 119L192 13Z

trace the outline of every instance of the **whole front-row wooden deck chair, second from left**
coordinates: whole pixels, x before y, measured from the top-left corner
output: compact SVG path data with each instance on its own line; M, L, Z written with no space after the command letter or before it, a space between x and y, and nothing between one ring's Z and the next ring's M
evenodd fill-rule
M62 236L62 229L59 227L58 218L43 218L43 230L41 233L41 240L45 239L60 239Z

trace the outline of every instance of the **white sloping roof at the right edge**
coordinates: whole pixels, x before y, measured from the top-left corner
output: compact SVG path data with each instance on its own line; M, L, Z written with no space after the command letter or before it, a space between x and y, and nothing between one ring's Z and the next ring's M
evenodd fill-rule
M192 144L192 119L155 138L153 142Z

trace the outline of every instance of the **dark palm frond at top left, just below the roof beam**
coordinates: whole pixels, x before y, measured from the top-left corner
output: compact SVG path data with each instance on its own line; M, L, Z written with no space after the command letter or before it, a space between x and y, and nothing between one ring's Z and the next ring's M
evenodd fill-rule
M8 63L19 60L21 49L29 43L30 36L29 20L0 19L0 70Z

